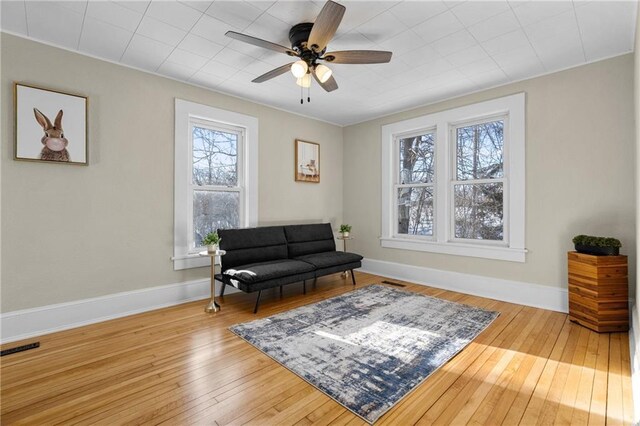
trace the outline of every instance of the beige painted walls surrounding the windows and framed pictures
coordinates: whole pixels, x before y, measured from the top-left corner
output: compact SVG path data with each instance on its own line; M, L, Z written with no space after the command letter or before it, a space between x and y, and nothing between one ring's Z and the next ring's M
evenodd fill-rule
M258 117L261 223L338 224L344 205L367 258L559 287L575 234L635 260L633 55L341 129L5 34L1 49L2 312L207 276L169 261L174 97ZM89 97L89 167L12 160L13 81ZM380 126L522 91L527 262L382 249ZM293 181L295 138L321 144L319 185Z

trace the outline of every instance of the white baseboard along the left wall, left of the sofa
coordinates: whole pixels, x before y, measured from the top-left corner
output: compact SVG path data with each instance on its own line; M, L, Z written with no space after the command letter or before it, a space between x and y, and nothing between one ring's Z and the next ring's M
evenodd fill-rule
M225 292L235 293L238 291L232 286L227 286ZM0 342L7 343L28 339L180 303L206 299L210 294L211 281L206 278L7 312L0 314ZM220 294L219 282L216 282L216 294Z

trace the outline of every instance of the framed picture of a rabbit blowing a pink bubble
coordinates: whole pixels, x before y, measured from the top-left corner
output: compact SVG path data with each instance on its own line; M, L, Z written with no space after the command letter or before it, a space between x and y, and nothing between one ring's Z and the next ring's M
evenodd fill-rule
M87 165L87 98L15 83L14 158Z

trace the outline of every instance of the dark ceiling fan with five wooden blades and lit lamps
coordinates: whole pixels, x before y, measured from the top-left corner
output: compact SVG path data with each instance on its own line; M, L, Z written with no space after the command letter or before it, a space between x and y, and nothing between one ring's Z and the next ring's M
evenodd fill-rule
M304 22L291 28L289 31L291 48L235 31L227 31L225 35L244 43L299 58L295 62L282 65L256 77L252 80L254 83L262 83L291 71L297 78L296 83L301 88L310 87L311 76L313 76L320 87L327 92L332 92L338 88L338 83L333 78L333 71L321 62L334 64L382 64L389 62L392 55L392 52L381 50L327 52L327 44L335 35L345 10L346 8L341 4L331 0L327 1L320 14L318 14L315 23ZM307 102L310 100L307 97ZM303 103L302 99L300 99L300 103Z

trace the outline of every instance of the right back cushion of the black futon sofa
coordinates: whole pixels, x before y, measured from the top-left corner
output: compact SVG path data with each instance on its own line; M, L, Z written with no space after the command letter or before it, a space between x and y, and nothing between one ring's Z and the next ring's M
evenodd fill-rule
M330 223L289 225L284 227L289 248L289 258L312 253L335 251L336 242Z

